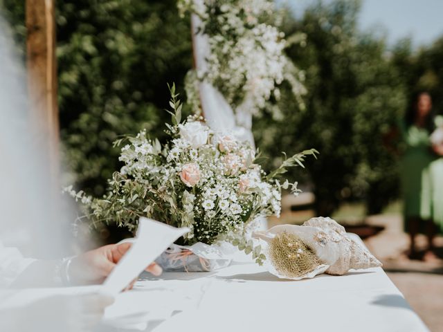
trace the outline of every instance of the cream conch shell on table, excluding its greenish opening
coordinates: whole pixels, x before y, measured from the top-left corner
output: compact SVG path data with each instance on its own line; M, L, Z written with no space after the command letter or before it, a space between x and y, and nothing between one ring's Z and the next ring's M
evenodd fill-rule
M303 225L278 225L267 231L254 232L253 237L268 243L268 252L275 237L280 233L294 234L311 249L318 258L318 264L311 271L298 276L277 270L275 261L268 262L269 272L285 279L311 278L320 273L344 275L350 269L372 268L381 263L357 238L345 232L345 228L330 218L312 218ZM268 253L269 256L269 253ZM269 264L270 263L270 264ZM283 274L282 274L283 273Z

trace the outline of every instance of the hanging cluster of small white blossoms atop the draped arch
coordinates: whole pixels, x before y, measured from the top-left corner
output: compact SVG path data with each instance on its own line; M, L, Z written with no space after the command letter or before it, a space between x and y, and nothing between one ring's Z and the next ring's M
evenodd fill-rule
M236 113L264 109L271 95L279 98L278 85L283 80L291 84L302 107L301 96L306 93L302 72L284 55L284 34L262 20L271 15L273 1L203 1L197 8L194 1L179 0L179 8L196 12L202 19L201 30L209 37L206 70L188 76L214 84ZM189 97L191 104L197 103L196 93L190 91ZM229 147L222 144L220 151Z

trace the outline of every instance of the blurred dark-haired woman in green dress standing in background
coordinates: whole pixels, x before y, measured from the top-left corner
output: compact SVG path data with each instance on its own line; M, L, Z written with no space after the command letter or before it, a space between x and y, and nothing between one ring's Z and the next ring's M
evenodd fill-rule
M428 93L419 93L413 107L401 123L404 153L400 159L401 192L404 202L405 230L410 234L410 258L417 258L415 236L426 232L428 250L432 255L435 225L431 220L431 179L429 164L435 158L429 136L433 122L432 100Z

